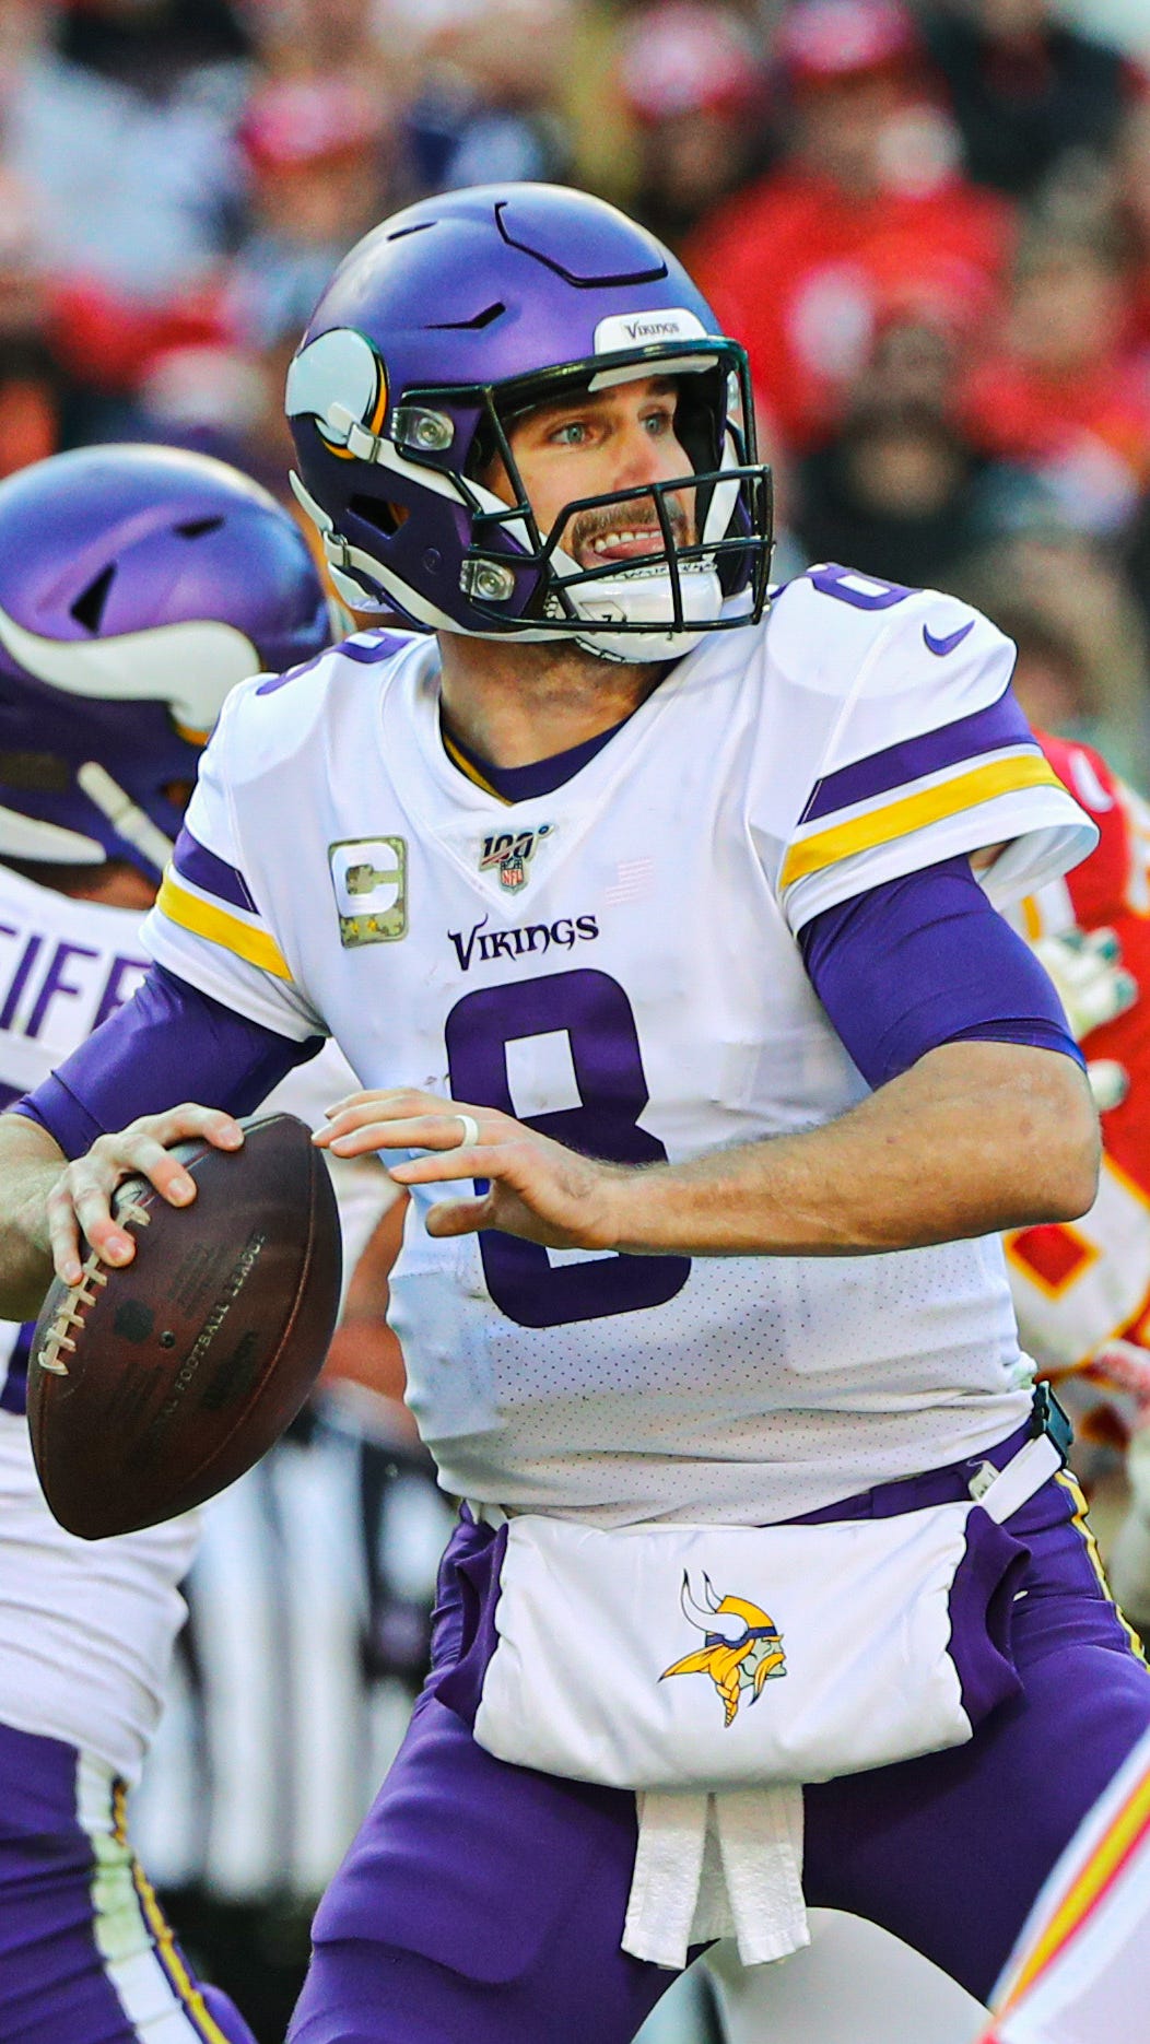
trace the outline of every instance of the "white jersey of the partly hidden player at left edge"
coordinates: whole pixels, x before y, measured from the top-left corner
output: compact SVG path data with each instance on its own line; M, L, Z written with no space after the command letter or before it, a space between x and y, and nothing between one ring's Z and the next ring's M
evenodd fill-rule
M147 969L139 922L137 912L74 901L0 865L0 1106L39 1085L129 1000ZM325 1051L274 1100L315 1126L349 1085L351 1073ZM351 1267L386 1204L386 1179L378 1169L337 1173L337 1192ZM27 1331L0 1320L0 1723L65 1739L131 1782L184 1623L178 1584L198 1515L123 1539L65 1533L33 1466L25 1349Z

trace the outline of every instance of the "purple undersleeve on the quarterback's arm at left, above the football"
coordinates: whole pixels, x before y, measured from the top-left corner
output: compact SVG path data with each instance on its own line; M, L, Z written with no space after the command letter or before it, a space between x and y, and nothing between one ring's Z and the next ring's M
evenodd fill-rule
M12 1112L41 1122L65 1157L82 1157L108 1128L182 1100L251 1114L323 1042L280 1036L153 965L133 1000Z

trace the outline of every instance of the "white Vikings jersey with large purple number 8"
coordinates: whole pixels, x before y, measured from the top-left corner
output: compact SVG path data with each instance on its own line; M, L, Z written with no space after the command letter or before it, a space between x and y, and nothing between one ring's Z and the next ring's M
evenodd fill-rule
M809 1128L866 1083L797 934L1007 842L1007 897L1093 828L946 597L821 570L682 660L564 787L447 758L431 640L364 634L243 685L145 926L153 955L366 1087L509 1110L619 1161ZM1011 722L1013 719L1013 722ZM1021 730L1021 736L1019 736ZM1013 736L1011 736L1013 734ZM997 1239L874 1257L621 1257L433 1241L392 1275L445 1488L598 1525L770 1521L976 1455L1025 1414Z

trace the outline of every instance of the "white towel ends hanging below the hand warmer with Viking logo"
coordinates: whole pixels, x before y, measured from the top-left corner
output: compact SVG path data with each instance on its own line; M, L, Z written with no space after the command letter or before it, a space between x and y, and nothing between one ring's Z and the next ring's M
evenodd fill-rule
M692 1944L735 1938L744 1966L811 1942L803 1901L803 1791L639 1795L623 1950L680 1970Z

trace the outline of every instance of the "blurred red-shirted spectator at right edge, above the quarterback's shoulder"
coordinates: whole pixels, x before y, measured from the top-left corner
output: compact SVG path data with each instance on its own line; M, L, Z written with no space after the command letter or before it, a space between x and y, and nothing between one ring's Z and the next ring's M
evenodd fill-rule
M1150 358L1130 345L1128 266L1105 221L1032 229L964 417L987 452L1046 472L1074 523L1125 523L1150 486Z

